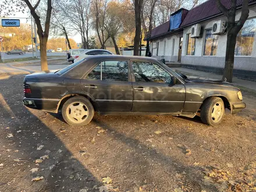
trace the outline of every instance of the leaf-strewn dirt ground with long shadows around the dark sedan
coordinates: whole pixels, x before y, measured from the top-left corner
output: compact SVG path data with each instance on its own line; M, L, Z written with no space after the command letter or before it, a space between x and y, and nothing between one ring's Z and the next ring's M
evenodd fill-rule
M255 92L217 127L97 114L72 127L24 107L23 78L0 76L0 191L256 191Z

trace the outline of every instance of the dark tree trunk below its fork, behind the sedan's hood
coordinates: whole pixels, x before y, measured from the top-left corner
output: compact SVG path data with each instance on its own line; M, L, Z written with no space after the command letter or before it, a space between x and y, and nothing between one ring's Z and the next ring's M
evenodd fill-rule
M232 30L230 30L227 33L225 69L222 77L222 80L226 79L229 83L232 83L235 48L236 48L236 34L234 34Z

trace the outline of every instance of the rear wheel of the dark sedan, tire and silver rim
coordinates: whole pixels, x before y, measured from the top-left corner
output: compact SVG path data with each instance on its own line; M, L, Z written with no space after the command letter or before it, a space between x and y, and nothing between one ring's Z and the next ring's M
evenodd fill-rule
M85 126L91 122L93 116L93 105L87 98L81 96L68 99L62 106L62 117L72 126Z

